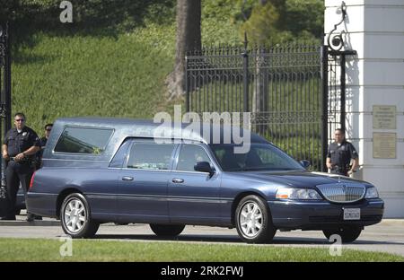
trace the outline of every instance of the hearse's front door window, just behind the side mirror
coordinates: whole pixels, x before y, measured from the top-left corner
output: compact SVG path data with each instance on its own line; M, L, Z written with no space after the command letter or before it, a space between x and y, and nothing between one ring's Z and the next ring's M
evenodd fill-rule
M182 144L178 157L177 171L194 171L197 162L210 162L205 150L195 144Z

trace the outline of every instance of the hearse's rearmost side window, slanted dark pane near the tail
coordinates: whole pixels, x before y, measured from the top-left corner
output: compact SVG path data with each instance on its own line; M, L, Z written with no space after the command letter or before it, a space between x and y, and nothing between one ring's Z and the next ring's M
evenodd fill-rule
M113 129L66 127L57 141L55 152L101 154L112 133Z

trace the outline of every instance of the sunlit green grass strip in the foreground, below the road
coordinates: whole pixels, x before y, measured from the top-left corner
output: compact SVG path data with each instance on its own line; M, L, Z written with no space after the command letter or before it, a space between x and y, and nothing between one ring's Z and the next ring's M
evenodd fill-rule
M99 240L74 240L73 256L61 257L63 244L58 240L0 239L0 261L404 261L396 255L352 249L332 257L328 248Z

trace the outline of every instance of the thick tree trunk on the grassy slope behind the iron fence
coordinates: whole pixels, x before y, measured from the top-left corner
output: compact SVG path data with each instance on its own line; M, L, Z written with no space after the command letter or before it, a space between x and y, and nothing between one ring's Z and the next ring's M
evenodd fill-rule
M174 71L167 78L170 99L185 93L185 54L200 50L201 0L177 0L177 50Z

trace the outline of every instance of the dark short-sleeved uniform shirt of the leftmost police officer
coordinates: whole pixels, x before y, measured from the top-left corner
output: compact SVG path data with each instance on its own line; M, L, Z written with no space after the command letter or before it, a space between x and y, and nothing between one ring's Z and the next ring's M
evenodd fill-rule
M30 127L23 127L19 133L17 128L7 131L4 138L9 156L16 156L18 153L27 151L31 146L40 146L40 138Z

